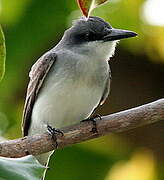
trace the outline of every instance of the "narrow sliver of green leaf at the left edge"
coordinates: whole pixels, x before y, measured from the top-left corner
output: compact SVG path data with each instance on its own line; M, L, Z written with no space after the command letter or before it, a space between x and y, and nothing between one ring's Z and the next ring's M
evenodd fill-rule
M5 59L6 59L6 48L5 38L0 26L0 81L2 80L5 73Z

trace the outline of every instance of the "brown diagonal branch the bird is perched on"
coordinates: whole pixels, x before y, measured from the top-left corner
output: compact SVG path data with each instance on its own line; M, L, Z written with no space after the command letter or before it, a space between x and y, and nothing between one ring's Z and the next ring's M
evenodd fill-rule
M164 120L164 99L118 112L97 119L97 133L91 132L92 122L84 122L61 129L64 136L58 135L58 148L80 143L106 135L127 131L139 126ZM28 154L38 155L54 149L54 142L48 133L27 136L0 143L0 156L22 157Z

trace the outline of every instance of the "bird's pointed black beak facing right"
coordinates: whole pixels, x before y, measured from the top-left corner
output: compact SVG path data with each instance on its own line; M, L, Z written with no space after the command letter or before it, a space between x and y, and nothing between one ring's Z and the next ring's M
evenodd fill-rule
M114 41L114 40L120 40L124 38L130 38L137 36L137 33L133 31L127 31L122 29L109 29L109 33L104 36L104 41Z

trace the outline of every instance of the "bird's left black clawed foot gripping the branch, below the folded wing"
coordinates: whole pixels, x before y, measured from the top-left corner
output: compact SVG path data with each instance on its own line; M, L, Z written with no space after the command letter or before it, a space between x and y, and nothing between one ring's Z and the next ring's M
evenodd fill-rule
M61 136L64 136L64 133L60 131L59 129L55 129L51 127L50 125L47 125L47 131L51 135L53 141L55 142L55 149L58 147L57 137L56 135L60 134Z

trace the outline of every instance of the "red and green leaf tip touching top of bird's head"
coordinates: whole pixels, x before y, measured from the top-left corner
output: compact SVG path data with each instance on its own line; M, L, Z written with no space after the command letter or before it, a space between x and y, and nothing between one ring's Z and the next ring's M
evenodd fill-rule
M91 11L108 0L77 0L84 16L88 17Z

